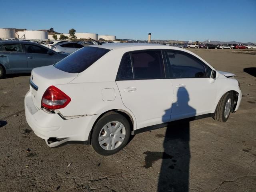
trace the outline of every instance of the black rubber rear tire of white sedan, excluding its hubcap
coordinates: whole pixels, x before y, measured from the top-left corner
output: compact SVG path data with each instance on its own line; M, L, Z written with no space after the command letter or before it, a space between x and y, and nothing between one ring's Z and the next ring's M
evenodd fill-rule
M126 130L126 136L124 138L124 141L118 148L108 151L108 150L104 150L100 146L100 144L98 142L98 136L99 136L100 131L102 130L103 126L105 126L107 123L112 122L112 121L119 121L124 125L125 130ZM94 126L94 129L92 132L92 141L91 141L92 147L98 154L101 154L104 156L115 154L126 146L126 144L129 141L130 134L131 134L130 123L124 116L122 116L121 114L118 114L118 113L113 113L110 115L107 114L106 116L102 116L102 118L100 118Z

